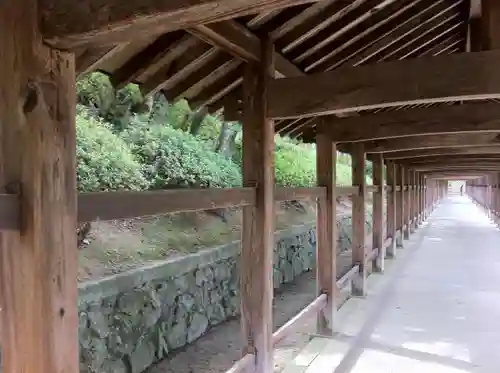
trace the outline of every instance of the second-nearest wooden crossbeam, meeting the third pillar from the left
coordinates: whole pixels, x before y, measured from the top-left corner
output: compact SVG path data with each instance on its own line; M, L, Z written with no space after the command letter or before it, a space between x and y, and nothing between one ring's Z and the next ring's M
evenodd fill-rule
M473 103L386 111L358 117L329 117L321 125L321 131L337 142L457 132L500 132L500 104Z

